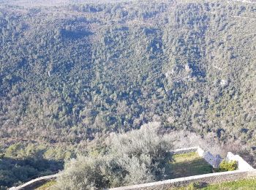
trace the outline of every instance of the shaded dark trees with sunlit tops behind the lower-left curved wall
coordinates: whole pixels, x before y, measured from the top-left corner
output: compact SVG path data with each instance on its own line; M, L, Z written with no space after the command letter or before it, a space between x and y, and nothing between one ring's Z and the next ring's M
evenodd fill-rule
M75 156L68 146L16 143L0 148L0 186L7 189L63 169L64 161Z

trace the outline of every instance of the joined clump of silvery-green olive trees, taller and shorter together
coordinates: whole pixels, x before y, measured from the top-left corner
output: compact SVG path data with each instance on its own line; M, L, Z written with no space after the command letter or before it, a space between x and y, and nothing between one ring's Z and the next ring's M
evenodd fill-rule
M108 140L105 155L79 156L65 164L59 189L104 189L163 178L170 142L159 134L159 123L144 125Z

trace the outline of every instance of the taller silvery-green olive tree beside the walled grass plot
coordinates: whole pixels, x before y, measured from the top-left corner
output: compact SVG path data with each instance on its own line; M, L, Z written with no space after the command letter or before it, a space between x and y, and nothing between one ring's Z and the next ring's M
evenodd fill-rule
M161 179L162 164L172 145L167 137L159 134L159 123L148 123L139 130L111 137L109 151L116 155L125 171L124 184L146 183Z

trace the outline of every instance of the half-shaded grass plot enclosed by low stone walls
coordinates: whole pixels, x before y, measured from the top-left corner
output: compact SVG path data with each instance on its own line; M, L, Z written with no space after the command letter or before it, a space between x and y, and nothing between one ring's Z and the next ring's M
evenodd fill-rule
M182 178L213 172L213 168L197 153L182 153L172 156L167 166L170 178Z

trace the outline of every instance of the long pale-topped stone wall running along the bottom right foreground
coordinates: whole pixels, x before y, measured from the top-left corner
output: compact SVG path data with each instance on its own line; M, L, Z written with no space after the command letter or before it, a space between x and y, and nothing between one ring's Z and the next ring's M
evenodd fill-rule
M244 178L250 178L256 176L256 170L251 171L230 171L230 172L219 172L219 173L210 173L205 175L195 175L186 178L176 178L172 180L162 180L153 183L144 183L135 186L123 186L118 188L113 188L109 190L153 190L153 189L162 189L167 190L173 187L188 186L193 182L200 183L220 183L229 180L238 180Z

